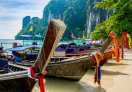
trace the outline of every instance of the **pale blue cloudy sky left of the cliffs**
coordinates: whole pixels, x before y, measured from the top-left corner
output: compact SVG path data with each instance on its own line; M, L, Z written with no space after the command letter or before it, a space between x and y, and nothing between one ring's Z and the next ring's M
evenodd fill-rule
M25 16L42 18L50 0L0 0L0 39L14 39Z

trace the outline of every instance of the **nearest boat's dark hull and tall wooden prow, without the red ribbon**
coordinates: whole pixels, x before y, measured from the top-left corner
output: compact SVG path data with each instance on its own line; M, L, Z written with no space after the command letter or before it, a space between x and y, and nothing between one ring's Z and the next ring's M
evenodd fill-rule
M47 67L49 59L53 55L56 45L62 37L65 29L66 26L62 21L50 21L42 49L38 55L36 63L34 64L36 73L43 72ZM0 92L31 92L36 81L28 77L28 72L26 74L24 73L24 76L27 76L24 78L15 75L13 78L10 78L8 74L1 75L1 79L8 78L8 80L0 80ZM23 76L23 74L20 75ZM10 76L12 76L12 74Z

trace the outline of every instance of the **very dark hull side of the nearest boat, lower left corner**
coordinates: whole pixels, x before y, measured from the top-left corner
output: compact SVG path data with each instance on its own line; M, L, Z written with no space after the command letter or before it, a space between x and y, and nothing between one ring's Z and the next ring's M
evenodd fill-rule
M31 92L34 84L35 81L28 77L0 80L0 92Z

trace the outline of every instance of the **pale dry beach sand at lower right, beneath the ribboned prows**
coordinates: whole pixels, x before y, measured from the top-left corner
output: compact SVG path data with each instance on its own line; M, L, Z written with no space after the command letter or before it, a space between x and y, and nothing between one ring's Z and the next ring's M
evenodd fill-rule
M98 88L93 83L94 72L88 72L88 74L81 80L93 87L93 90L88 92L132 92L132 51L125 51L125 59L121 60L120 63L109 60L102 67L102 88Z

